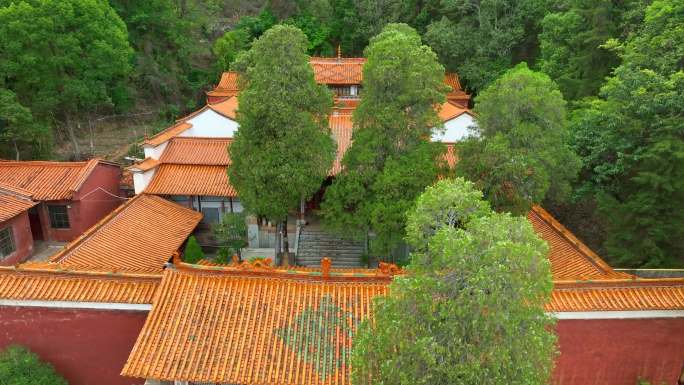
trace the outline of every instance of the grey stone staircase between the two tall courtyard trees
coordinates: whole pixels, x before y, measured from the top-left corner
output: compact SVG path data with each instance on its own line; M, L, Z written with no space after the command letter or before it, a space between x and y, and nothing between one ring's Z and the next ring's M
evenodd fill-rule
M361 255L363 242L352 241L330 234L320 229L303 227L299 235L297 264L318 267L321 258L329 257L332 267L363 267Z

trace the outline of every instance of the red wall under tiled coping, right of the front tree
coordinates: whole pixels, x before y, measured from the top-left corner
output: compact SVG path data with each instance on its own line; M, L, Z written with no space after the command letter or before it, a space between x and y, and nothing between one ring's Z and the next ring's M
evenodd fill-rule
M561 320L556 385L677 385L684 318Z

